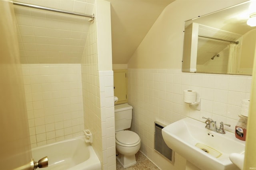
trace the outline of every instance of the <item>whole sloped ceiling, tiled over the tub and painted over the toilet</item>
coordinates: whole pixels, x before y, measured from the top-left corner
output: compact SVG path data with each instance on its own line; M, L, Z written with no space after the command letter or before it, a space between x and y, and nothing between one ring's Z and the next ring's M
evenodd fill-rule
M174 0L107 1L111 3L112 63L127 64L158 16ZM83 14L92 14L94 8L94 0L38 0L32 4ZM14 9L22 63L81 62L88 18L21 6Z

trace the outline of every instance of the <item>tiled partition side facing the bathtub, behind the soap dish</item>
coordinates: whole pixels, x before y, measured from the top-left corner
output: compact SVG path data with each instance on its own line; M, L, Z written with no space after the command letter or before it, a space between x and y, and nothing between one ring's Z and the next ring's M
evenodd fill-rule
M96 18L97 20L97 18ZM98 51L96 21L89 27L88 37L81 60L82 91L84 106L84 129L89 129L94 136L92 147L103 168L102 124L100 103L100 80L98 73Z

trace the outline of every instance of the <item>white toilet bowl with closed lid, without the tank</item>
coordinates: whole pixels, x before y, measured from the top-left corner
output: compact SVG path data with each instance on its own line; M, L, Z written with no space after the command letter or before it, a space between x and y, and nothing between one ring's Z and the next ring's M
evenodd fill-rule
M135 165L135 154L140 150L140 137L133 131L119 131L116 133L116 159L124 167Z

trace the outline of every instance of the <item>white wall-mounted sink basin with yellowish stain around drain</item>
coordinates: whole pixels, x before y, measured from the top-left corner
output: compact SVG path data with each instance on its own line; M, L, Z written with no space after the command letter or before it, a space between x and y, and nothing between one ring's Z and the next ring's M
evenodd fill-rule
M164 127L162 136L170 149L202 170L239 170L229 155L244 153L245 141L228 131L210 131L205 125L187 117Z

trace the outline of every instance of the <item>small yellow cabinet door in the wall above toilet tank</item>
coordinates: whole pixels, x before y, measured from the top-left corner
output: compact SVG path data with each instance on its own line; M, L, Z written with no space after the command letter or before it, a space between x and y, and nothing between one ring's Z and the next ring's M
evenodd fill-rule
M114 96L118 97L115 104L127 103L127 70L114 70Z

